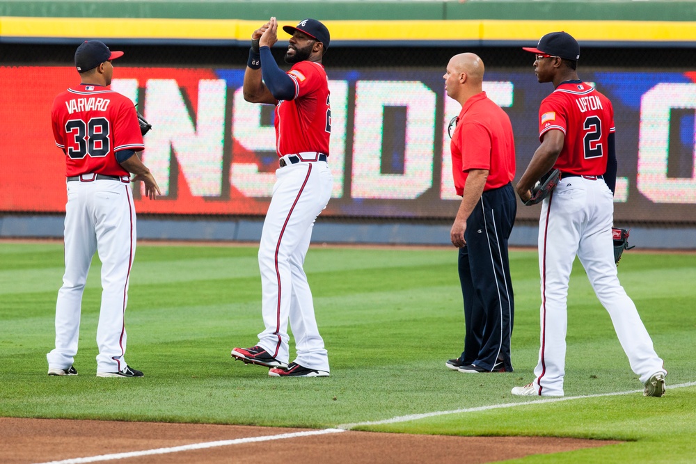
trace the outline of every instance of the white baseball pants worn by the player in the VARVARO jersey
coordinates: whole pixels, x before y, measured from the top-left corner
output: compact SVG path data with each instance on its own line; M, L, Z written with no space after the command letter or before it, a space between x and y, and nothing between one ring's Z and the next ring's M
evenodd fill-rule
M130 184L116 180L68 182L65 205L65 275L56 303L56 348L49 369L68 369L77 354L82 294L93 255L102 262L102 304L97 326L97 372L125 369L123 316L136 248Z

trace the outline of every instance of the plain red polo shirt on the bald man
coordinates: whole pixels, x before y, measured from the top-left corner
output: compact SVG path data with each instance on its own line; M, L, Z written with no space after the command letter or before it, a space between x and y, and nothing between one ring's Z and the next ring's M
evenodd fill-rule
M515 177L515 141L510 118L485 92L466 100L450 142L457 195L464 194L470 169L489 171L484 191L498 189Z

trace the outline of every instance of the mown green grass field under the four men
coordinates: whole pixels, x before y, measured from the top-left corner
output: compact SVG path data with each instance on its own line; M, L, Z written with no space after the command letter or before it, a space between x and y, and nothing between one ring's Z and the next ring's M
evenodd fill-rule
M509 391L532 381L539 351L535 250L511 253L516 371L478 375L444 366L461 352L464 335L456 250L312 248L305 269L330 378L269 378L267 369L230 358L262 330L256 253L253 246L141 244L126 312L127 361L145 378L115 380L94 375L98 260L83 301L80 375L49 377L62 243L0 243L0 416L329 428L511 404L357 428L626 441L519 462L696 462L696 386L672 387L696 381L693 254L627 252L619 266L665 359L664 398L638 392L642 385L576 262L566 398L631 393L529 404L539 398Z

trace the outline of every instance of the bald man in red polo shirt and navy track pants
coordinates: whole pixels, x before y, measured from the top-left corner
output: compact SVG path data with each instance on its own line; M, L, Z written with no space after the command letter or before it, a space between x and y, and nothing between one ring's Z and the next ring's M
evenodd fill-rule
M484 64L471 53L453 56L445 90L461 104L452 134L452 174L461 205L450 239L459 248L464 296L464 352L445 365L460 372L512 372L514 296L507 240L517 200L510 119L482 89Z

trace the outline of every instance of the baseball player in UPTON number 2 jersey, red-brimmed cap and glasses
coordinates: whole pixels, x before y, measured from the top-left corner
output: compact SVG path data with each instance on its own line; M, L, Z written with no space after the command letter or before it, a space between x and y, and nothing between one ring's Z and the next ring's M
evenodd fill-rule
M616 184L614 111L607 97L578 78L578 42L565 32L544 35L535 48L535 74L555 90L541 102L539 141L516 190L530 189L552 168L561 171L555 190L544 199L539 219L541 348L535 380L514 387L521 396L563 396L568 283L576 255L599 301L609 312L631 369L644 395L665 392L663 360L653 348L631 298L619 283L614 262L612 223Z

